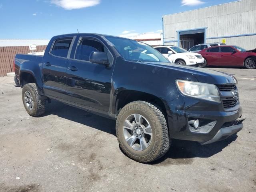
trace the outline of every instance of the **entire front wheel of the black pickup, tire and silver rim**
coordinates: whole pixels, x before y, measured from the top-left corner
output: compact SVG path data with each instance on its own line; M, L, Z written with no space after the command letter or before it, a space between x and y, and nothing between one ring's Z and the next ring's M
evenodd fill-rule
M142 163L161 158L170 147L164 115L144 101L131 102L122 108L116 120L116 136L122 151Z

